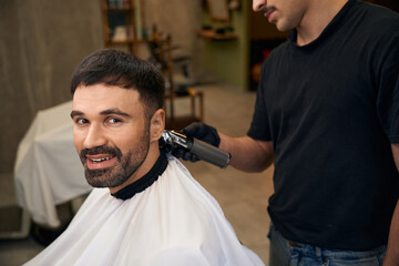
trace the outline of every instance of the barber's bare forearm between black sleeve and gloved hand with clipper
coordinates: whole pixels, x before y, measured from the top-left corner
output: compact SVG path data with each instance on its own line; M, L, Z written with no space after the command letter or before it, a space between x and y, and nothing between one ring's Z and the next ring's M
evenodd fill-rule
M219 149L232 154L231 165L245 172L262 172L274 158L273 142L256 141L249 136L232 137L223 133Z

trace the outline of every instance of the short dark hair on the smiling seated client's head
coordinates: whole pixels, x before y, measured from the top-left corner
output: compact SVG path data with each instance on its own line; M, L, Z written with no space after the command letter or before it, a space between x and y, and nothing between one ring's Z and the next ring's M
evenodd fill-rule
M103 49L86 57L75 69L71 81L71 93L80 85L104 83L137 90L147 117L163 106L165 82L156 68L137 57Z

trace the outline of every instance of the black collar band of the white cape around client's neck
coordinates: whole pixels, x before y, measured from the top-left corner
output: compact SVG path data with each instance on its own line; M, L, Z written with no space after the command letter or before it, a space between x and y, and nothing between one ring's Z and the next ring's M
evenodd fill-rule
M150 187L155 181L157 181L158 176L163 174L166 167L167 157L163 152L161 152L160 157L149 173L146 173L143 177L135 181L134 183L123 187L119 192L111 195L123 201L132 198L136 193L143 192L145 188Z

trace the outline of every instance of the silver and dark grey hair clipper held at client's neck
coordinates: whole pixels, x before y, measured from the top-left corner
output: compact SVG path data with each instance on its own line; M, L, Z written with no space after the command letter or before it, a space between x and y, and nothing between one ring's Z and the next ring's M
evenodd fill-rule
M188 152L194 153L201 160L219 166L221 168L227 167L231 161L231 154L219 149L200 141L195 137L190 137L181 132L165 130L161 137L165 145L168 145L172 151L177 147L186 149Z

